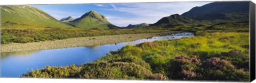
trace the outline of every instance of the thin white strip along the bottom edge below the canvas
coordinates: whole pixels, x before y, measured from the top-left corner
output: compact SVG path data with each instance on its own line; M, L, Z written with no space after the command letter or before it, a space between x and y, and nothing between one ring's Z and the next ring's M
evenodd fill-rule
M0 82L2 83L62 83L62 82L72 82L72 83L94 83L94 82L100 82L100 83L179 83L179 82L195 82L195 83L201 83L201 82L208 82L213 83L212 81L158 81L158 80L99 80L99 79L44 79L44 78L0 78ZM230 81L225 82L218 82L218 83L229 83ZM233 82L230 82L233 83Z

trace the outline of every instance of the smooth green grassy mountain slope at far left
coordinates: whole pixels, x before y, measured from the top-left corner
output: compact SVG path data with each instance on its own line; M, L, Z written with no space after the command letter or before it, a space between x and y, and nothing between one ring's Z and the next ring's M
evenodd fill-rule
M54 19L39 8L28 5L2 5L2 27L45 28L73 27Z

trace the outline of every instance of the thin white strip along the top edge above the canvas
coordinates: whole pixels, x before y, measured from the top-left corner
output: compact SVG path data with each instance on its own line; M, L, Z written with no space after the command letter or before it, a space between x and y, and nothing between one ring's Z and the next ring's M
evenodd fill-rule
M203 0L1 0L0 5L26 4L83 4L83 3L138 3L138 2L196 2ZM204 0L204 1L249 1L249 0Z

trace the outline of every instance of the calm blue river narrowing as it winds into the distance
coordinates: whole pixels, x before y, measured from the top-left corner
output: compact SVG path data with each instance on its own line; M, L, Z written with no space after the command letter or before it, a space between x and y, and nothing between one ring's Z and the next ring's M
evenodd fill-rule
M117 44L105 44L94 47L74 47L1 53L1 77L19 77L23 73L27 73L28 70L41 69L46 65L69 66L71 64L80 65L82 63L93 62L94 60L105 56L109 51L116 51L127 44L135 45L143 42L180 39L191 36L194 36L194 34L190 32L183 32L167 36L155 36L151 39L141 39Z

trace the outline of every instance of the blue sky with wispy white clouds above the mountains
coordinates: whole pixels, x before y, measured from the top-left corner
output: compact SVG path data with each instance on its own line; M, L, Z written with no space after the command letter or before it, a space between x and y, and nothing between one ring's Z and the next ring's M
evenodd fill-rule
M195 6L211 2L168 2L168 3L108 3L108 4L52 4L32 5L50 14L55 19L80 17L94 10L105 15L107 20L117 26L129 24L155 23L162 17L182 14Z

